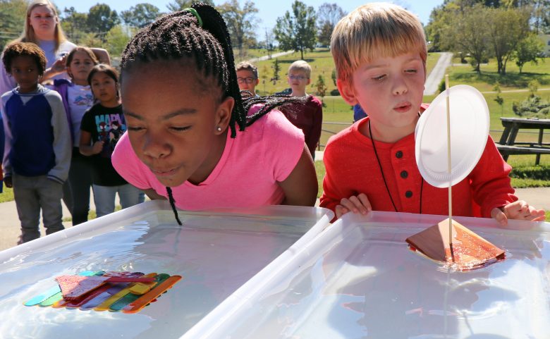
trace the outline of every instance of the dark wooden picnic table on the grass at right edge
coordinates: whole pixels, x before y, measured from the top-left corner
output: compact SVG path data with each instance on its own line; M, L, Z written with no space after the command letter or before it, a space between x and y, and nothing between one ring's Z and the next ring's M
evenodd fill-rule
M512 154L537 154L535 164L539 164L541 154L550 154L550 143L543 142L544 130L550 128L550 119L501 118L504 131L496 147L504 160ZM516 142L519 130L539 130L537 142Z

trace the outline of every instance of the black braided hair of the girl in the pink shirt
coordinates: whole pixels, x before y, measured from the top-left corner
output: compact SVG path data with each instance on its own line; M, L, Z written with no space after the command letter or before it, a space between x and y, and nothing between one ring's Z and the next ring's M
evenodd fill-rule
M124 73L130 72L140 63L178 61L185 58L195 62L197 70L204 78L217 80L217 85L223 93L222 99L233 97L235 100L229 121L231 137L237 136L237 126L243 131L246 126L277 106L305 103L303 98L281 95L243 99L238 87L233 47L226 23L216 9L202 3L195 3L184 11L162 16L140 30L123 51L121 81ZM254 104L264 106L247 116L248 110ZM166 191L173 206L171 190ZM175 208L173 209L176 213Z

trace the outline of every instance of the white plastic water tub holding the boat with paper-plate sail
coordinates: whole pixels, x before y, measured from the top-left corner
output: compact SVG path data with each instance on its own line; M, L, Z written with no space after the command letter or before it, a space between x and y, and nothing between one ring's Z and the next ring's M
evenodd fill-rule
M550 223L456 218L506 250L456 272L405 243L444 218L348 214L228 298L223 321L207 316L182 338L550 338Z

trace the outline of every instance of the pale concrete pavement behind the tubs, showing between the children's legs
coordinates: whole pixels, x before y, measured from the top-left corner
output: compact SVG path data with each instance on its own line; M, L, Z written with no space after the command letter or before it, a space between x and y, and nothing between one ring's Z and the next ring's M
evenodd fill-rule
M316 159L322 159L322 154L319 154ZM541 188L520 188L516 190L516 195L520 199L525 200L529 204L539 209L550 210L550 187ZM317 199L317 202L319 199ZM118 203L118 197L117 202ZM95 209L93 195L90 199L90 209ZM65 205L63 204L63 218L71 217ZM16 202L4 202L0 204L0 251L13 247L17 244L20 233L19 217L16 209ZM65 227L71 227L72 223L63 223ZM42 235L45 235L44 228L40 226Z

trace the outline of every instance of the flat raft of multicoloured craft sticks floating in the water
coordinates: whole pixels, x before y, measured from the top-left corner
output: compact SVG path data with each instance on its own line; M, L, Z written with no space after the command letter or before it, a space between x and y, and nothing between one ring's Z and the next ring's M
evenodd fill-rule
M85 271L56 277L58 285L27 300L25 306L136 313L180 279L166 273Z

